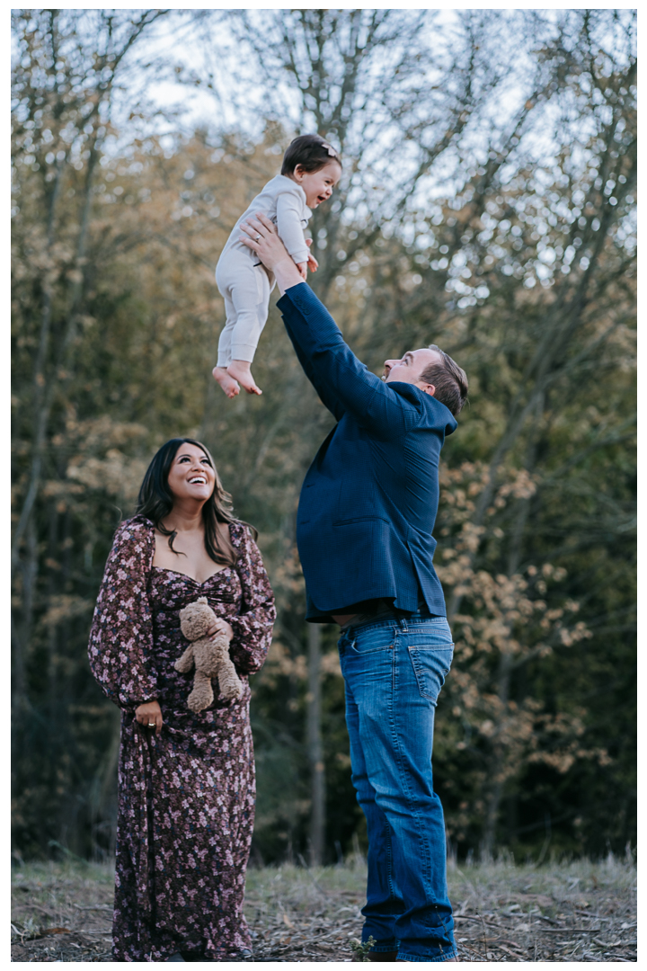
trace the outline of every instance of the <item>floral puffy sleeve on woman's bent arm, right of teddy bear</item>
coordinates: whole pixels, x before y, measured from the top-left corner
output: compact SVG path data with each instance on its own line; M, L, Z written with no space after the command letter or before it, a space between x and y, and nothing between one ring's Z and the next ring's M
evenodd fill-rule
M230 618L234 638L229 653L242 674L253 674L263 667L276 619L275 596L270 586L261 553L242 522L231 528L232 542L239 558L236 563L242 587L241 611Z

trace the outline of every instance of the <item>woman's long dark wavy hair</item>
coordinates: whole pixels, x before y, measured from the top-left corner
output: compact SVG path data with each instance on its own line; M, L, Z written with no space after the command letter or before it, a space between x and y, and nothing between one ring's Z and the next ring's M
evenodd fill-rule
M241 522L232 515L232 497L226 492L220 482L215 462L209 449L197 442L194 438L171 438L165 442L161 449L153 455L150 465L146 469L144 482L140 488L137 499L136 515L145 516L150 519L160 533L169 537L169 546L173 550L173 541L177 535L175 530L167 529L163 520L173 509L174 495L169 488L169 472L173 465L173 460L178 454L181 445L195 445L205 452L209 458L210 466L215 476L215 484L210 498L202 507L202 519L205 523L205 547L210 558L215 563L224 566L234 566L238 559L238 553L229 542L229 537L223 535L218 528L218 523ZM245 523L249 525L249 523ZM258 535L253 526L249 526L254 534L254 539ZM227 531L228 532L228 531ZM178 552L173 550L173 552Z

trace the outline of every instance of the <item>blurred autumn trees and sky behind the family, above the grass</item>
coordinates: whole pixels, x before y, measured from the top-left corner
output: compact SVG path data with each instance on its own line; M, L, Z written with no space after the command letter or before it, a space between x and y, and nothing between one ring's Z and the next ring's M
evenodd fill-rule
M449 852L633 845L634 14L15 11L13 85L15 854L113 852L118 712L89 622L147 462L184 434L278 601L253 858L365 846L335 630L304 621L295 546L332 419L274 309L263 397L210 378L218 253L314 130L344 174L310 223L313 289L376 373L435 342L469 374L436 527Z

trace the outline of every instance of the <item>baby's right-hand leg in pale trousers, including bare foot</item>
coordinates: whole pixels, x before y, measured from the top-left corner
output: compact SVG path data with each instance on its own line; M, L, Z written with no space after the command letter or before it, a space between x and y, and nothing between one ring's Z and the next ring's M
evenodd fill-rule
M254 286L249 285L247 275L241 275L240 283L235 281L231 296L237 309L236 326L231 337L231 363L227 373L240 381L249 394L262 394L251 376L250 362L258 339L268 318L270 304L270 280L262 266L254 267Z

